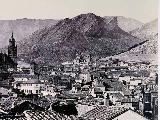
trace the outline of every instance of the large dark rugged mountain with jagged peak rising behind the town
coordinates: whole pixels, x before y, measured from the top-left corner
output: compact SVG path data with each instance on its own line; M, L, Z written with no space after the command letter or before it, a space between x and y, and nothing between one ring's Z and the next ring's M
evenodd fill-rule
M60 20L20 41L19 54L22 58L26 56L25 59L50 64L73 60L81 53L98 57L115 55L144 42L123 31L117 17L106 21L93 13Z

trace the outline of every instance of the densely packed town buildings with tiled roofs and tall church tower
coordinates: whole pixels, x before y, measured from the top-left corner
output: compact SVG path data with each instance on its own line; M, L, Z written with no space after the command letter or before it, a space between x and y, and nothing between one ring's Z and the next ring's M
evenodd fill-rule
M0 90L3 114L9 114L15 107L29 101L44 108L44 112L29 111L28 107L24 107L22 117L38 119L38 116L54 118L56 115L68 120L158 119L157 65L144 61L97 59L83 53L77 54L73 61L40 66L17 59L13 35L9 43L7 56L15 64L6 65L10 75L6 79L8 86L2 86ZM62 115L60 113L65 114L65 111L57 111L55 104L73 104L77 113L67 111L70 115Z

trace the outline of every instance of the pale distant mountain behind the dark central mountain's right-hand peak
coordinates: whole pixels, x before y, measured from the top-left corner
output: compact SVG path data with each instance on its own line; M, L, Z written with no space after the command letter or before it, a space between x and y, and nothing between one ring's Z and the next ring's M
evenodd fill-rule
M105 16L106 22L110 21L114 17L117 17L118 26L124 30L125 32L133 31L137 28L142 27L144 25L142 22L135 20L133 18L126 18L123 16Z

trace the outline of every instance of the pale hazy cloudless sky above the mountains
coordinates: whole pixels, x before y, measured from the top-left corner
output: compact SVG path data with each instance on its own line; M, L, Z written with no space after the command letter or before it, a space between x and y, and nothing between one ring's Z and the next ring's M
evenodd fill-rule
M0 0L0 19L62 19L89 12L146 23L157 18L158 0Z

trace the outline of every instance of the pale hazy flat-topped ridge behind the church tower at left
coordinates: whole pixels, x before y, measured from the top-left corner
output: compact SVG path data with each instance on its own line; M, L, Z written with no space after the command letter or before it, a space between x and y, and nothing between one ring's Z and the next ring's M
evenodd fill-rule
M56 24L56 20L46 19L17 19L17 20L0 20L0 48L8 45L8 39L11 36L12 31L16 41L20 41L33 32Z

